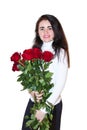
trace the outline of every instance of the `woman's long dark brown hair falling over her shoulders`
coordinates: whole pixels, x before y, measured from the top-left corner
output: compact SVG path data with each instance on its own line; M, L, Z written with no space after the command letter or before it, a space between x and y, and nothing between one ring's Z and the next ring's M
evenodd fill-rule
M34 47L38 47L41 49L41 46L43 44L42 40L40 39L39 35L38 35L38 27L39 27L39 23L42 20L48 20L53 28L54 31L54 42L52 43L52 47L55 50L55 54L60 54L60 49L63 48L65 50L65 53L67 54L68 57L68 67L70 67L70 58L69 58L69 49L68 49L68 43L63 31L63 28L59 22L59 20L53 16L53 15L42 15L37 23L36 23L36 27L35 27L35 38L34 38Z

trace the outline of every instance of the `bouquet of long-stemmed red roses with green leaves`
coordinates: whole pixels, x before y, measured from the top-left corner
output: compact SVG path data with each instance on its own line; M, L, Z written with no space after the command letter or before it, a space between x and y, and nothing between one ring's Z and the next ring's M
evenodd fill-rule
M21 71L18 75L17 81L23 86L23 90L38 91L41 93L43 90L43 98L40 102L34 99L34 105L31 108L31 116L26 116L29 120L26 122L26 127L31 127L34 130L49 130L50 121L52 120L51 111L53 107L51 104L47 105L46 101L51 95L50 89L54 86L51 83L52 72L48 70L49 65L52 63L54 55L49 51L42 52L39 48L26 49L23 53L15 52L10 57L13 61L12 70ZM45 108L47 114L42 122L35 118L36 110Z

